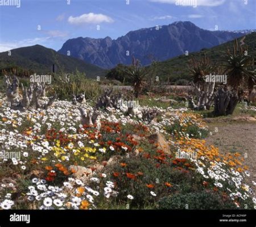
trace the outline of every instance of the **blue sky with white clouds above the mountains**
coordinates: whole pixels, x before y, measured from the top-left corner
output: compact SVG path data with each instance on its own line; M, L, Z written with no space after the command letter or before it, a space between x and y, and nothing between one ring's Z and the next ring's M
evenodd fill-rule
M6 6L5 1L16 2L16 6ZM116 39L129 31L178 20L189 20L207 30L214 30L216 25L219 30L255 29L255 2L0 0L0 52L35 44L57 51L71 38L110 36Z

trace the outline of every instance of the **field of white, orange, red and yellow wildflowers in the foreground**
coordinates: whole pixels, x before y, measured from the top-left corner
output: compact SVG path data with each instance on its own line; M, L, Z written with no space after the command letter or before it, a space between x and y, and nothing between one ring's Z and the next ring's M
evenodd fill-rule
M151 122L107 108L82 125L68 100L20 111L0 99L0 209L256 208L242 153L208 146L203 116L187 107L139 106L160 113Z

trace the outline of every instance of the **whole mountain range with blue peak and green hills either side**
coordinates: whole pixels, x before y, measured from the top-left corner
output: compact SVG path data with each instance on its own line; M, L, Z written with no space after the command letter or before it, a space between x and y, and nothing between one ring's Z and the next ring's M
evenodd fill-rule
M150 65L158 75L169 78L185 78L187 75L187 56L195 53L209 53L210 57L220 57L220 50L225 51L220 44L238 37L246 36L250 40L251 51L255 52L255 32L244 31L208 31L203 30L191 22L175 22L168 26L158 28L143 28L131 31L125 36L112 40L82 38L66 41L59 52L34 45L22 47L9 52L0 53L0 72L3 69L19 68L21 72L28 73L52 73L52 65L57 72L86 73L88 77L105 75L106 70L117 64L130 65L132 57L139 59L143 65ZM251 38L252 37L252 38ZM230 42L232 45L232 42ZM216 48L213 48L216 47ZM220 48L218 48L220 47ZM214 50L212 52L212 49ZM67 56L70 51L71 56ZM129 56L126 52L129 51ZM216 59L217 59L216 58ZM105 69L103 69L105 68ZM8 70L7 70L8 72Z

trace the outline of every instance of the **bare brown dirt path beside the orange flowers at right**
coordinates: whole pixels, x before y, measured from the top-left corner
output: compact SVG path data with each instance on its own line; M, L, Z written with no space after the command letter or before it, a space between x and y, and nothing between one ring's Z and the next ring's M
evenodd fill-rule
M208 123L212 136L207 138L207 144L219 148L220 153L239 152L245 157L245 165L249 166L250 177L247 183L256 192L256 123L231 121ZM217 129L217 132L216 132ZM247 154L247 158L246 158Z

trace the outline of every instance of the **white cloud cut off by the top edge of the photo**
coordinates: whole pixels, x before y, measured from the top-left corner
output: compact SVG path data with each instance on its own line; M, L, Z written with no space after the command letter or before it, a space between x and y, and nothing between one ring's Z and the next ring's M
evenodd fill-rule
M150 0L151 2L175 4L179 6L220 6L226 0Z

